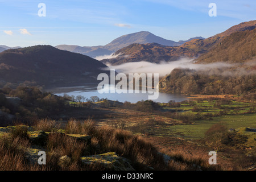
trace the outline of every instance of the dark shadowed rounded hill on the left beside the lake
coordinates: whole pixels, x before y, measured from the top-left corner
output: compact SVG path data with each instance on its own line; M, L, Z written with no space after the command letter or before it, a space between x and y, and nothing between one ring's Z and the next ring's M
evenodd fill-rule
M107 68L89 56L52 46L8 49L0 53L0 82L35 81L45 86L69 86L96 82Z

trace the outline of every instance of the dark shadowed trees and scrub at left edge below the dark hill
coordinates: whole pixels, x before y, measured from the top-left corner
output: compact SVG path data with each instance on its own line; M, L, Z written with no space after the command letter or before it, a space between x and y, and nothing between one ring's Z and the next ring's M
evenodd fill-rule
M65 108L63 97L41 92L36 87L0 89L0 121L32 121L56 115Z

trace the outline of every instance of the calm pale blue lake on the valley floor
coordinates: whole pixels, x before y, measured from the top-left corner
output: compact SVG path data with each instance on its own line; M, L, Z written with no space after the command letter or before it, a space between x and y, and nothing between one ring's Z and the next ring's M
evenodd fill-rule
M69 96L84 96L90 98L92 96L97 96L99 98L107 98L108 100L125 102L129 101L131 103L136 103L141 100L148 100L148 93L98 93L96 84L86 84L84 86L72 86L72 87L58 87L58 88L48 88L45 91L51 92L56 96L63 96L64 93L67 93ZM109 85L109 90L113 90L115 87ZM151 94L152 95L152 94ZM168 102L174 100L175 102L181 102L187 100L187 97L182 94L169 94L159 92L159 97L155 102Z

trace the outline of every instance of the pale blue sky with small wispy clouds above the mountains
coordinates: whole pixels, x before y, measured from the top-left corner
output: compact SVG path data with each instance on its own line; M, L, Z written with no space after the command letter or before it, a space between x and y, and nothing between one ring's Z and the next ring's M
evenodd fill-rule
M210 17L209 3L217 16ZM46 16L38 16L38 4ZM0 0L0 44L99 46L125 34L150 31L169 40L208 38L229 27L255 20L252 0Z

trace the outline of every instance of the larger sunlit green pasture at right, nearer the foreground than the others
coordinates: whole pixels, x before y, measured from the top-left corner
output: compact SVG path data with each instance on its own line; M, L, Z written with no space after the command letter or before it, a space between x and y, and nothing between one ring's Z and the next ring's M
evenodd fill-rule
M222 125L227 126L228 129L237 129L239 127L256 128L256 114L224 115L221 117L214 117L213 120L210 121L198 120L195 121L193 125L169 126L168 133L185 139L200 139L204 137L205 131L216 123L221 123Z

